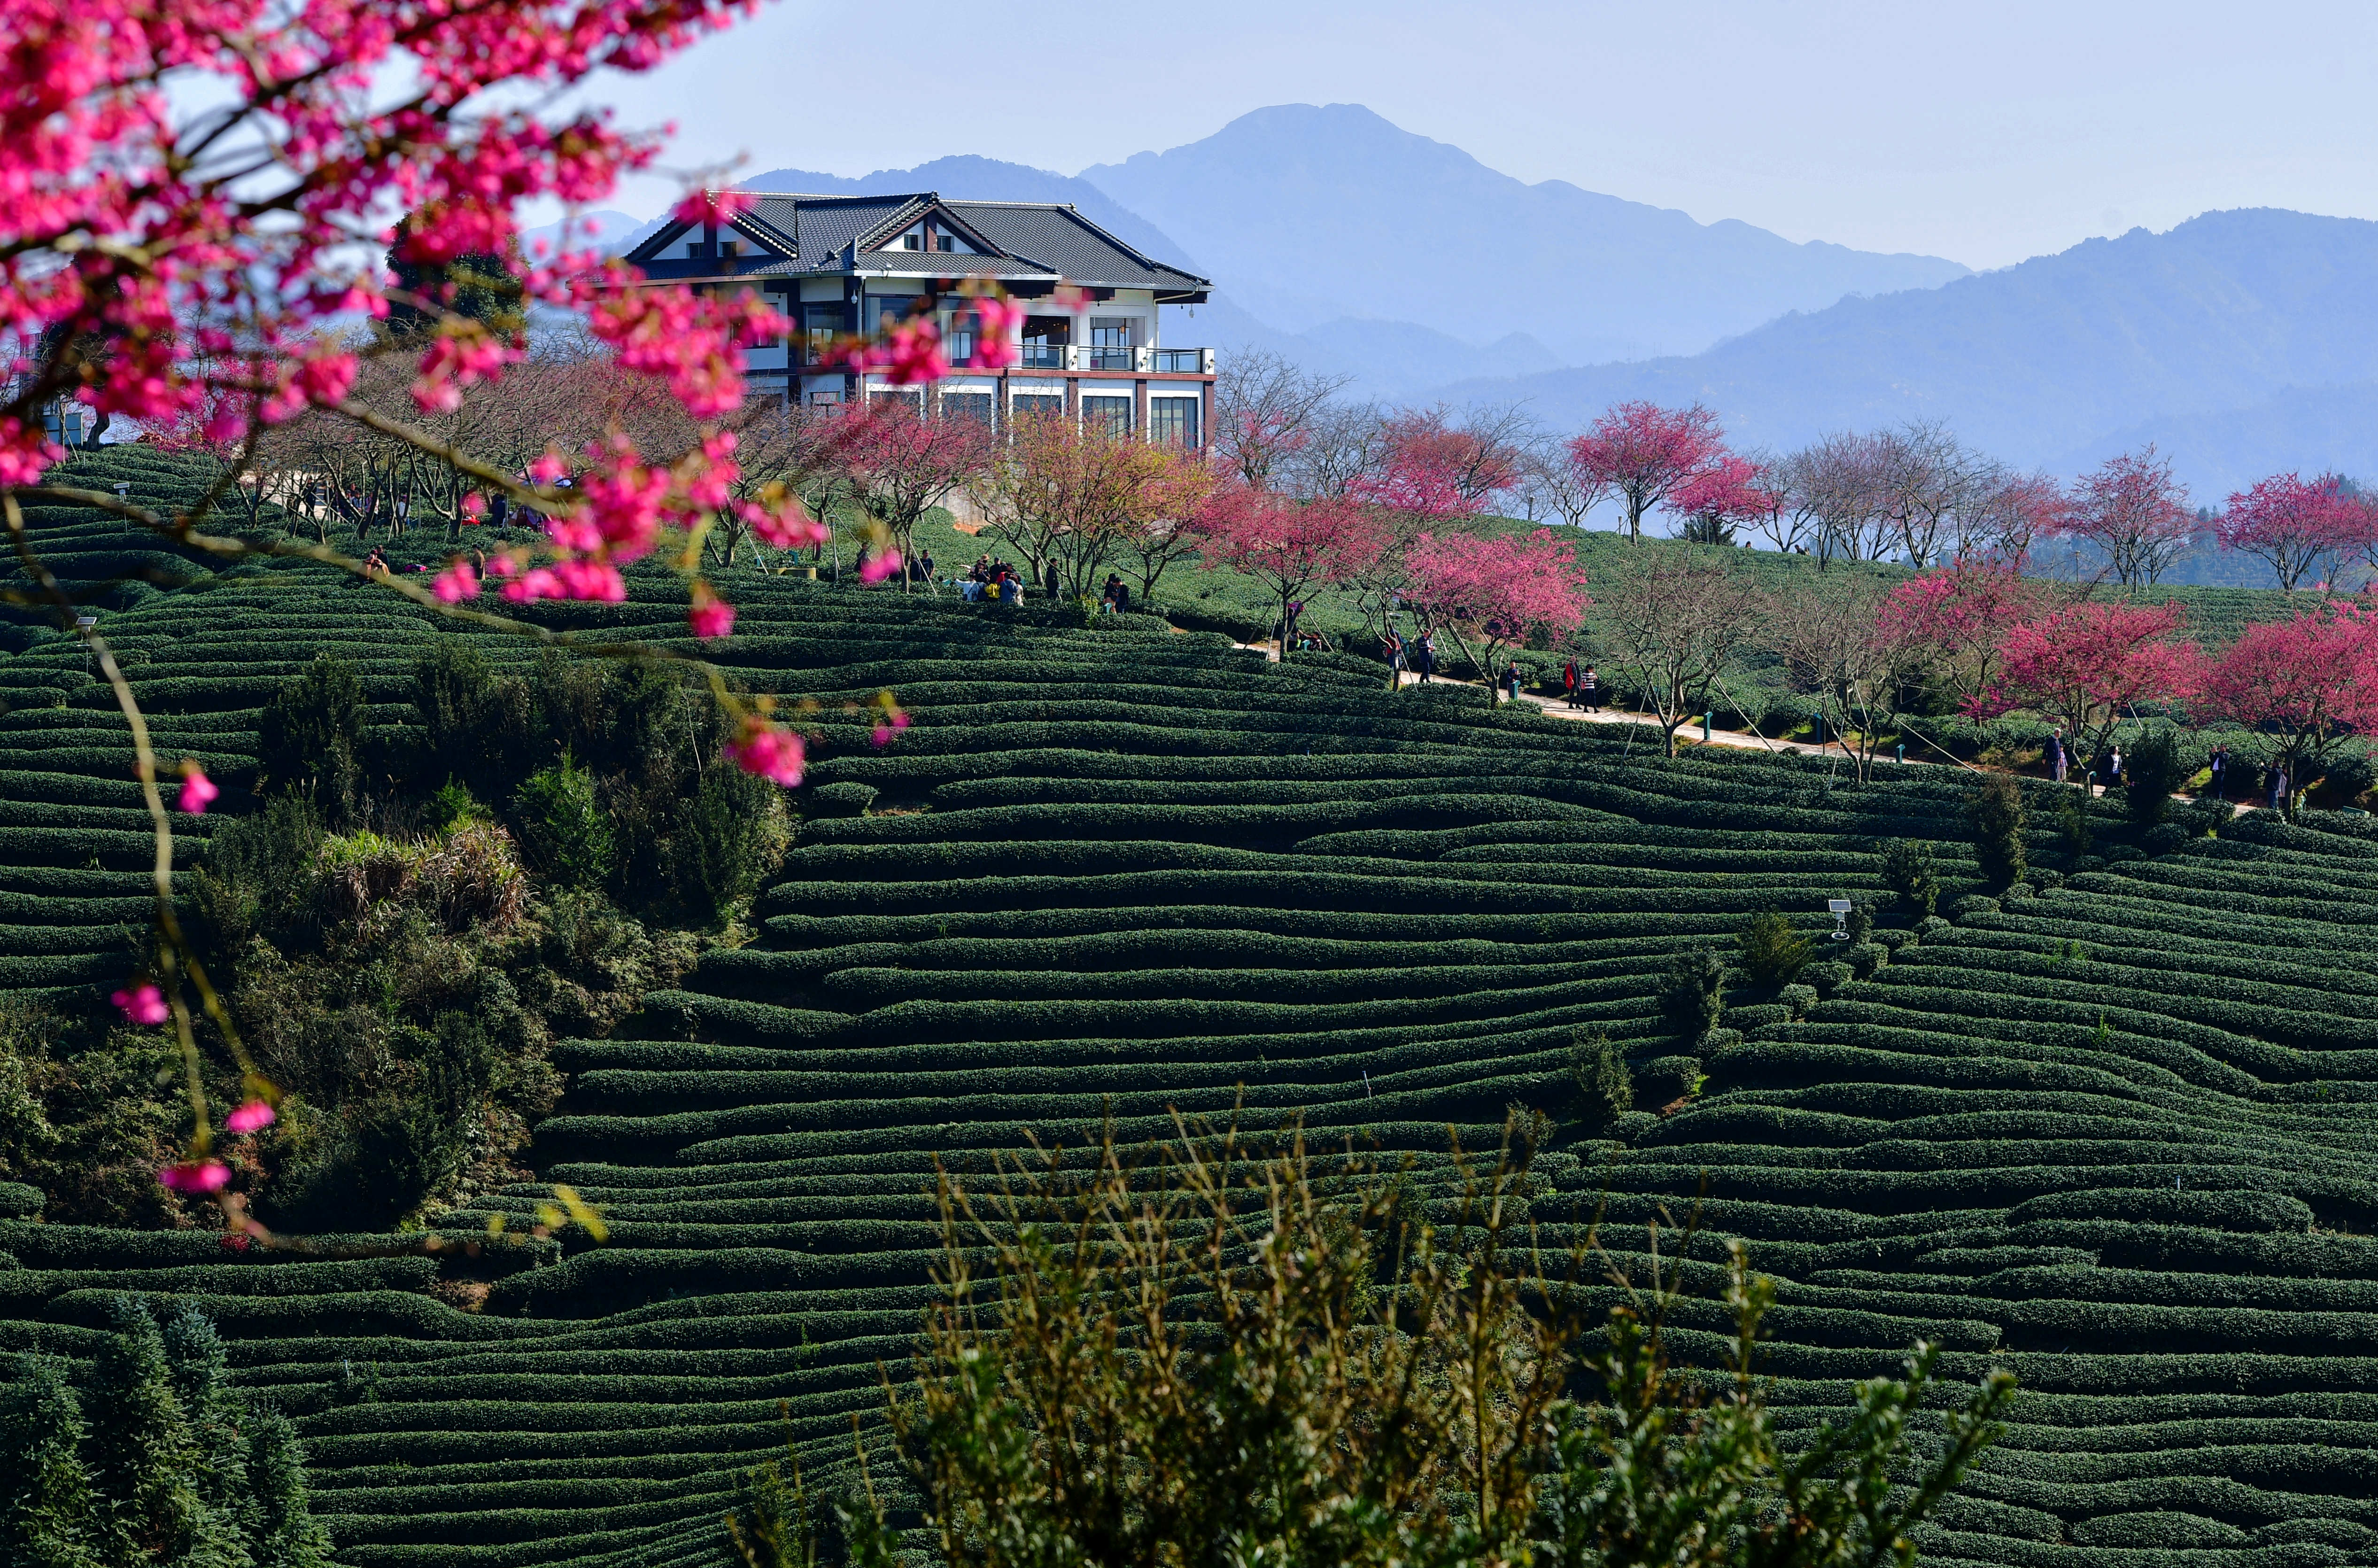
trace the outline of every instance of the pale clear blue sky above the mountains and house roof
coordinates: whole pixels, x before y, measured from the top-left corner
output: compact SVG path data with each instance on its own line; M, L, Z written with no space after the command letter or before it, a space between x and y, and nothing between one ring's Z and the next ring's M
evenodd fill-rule
M2216 207L2378 219L2378 5L775 0L592 95L668 162L1061 174L1360 102L1524 181L2007 266ZM673 181L621 190L652 214Z

